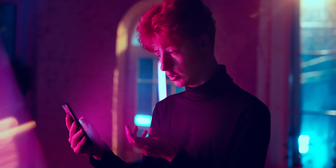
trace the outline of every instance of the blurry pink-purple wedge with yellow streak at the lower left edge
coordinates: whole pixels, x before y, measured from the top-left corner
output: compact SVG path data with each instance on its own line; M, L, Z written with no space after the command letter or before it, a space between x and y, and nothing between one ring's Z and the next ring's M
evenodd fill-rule
M44 157L29 121L25 101L16 83L0 38L0 167L44 168Z

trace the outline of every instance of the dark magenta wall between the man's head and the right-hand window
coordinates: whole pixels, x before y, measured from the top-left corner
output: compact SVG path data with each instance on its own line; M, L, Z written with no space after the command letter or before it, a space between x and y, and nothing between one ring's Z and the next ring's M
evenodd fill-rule
M259 1L204 1L216 20L215 55L234 82L255 94Z

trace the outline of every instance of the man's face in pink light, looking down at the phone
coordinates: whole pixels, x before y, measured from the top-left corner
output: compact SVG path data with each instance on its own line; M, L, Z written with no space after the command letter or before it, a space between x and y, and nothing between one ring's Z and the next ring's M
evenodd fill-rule
M155 55L161 62L161 70L176 86L196 87L202 81L200 67L202 66L202 52L197 46L197 42L189 40L179 40L178 43L170 46L153 45Z

